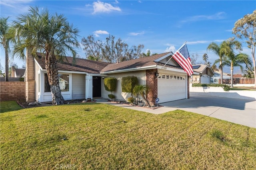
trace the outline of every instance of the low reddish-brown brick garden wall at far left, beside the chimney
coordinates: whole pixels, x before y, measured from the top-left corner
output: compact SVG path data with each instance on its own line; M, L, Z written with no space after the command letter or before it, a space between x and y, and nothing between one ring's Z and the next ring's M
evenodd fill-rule
M0 82L0 100L25 100L25 82Z

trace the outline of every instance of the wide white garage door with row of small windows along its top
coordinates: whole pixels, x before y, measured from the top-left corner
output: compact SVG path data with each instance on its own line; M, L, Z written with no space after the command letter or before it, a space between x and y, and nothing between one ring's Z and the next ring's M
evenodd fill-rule
M159 74L157 84L159 103L186 98L186 76Z

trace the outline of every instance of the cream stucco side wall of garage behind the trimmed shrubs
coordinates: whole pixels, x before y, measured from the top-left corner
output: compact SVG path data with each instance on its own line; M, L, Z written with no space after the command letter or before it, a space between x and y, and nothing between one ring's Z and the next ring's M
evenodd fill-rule
M136 76L138 78L139 84L146 84L146 71L133 71L133 72L122 72L122 73L114 73L108 74L108 77L115 77L117 79L116 91L113 94L116 96L117 100L127 100L130 97L130 93L122 92L121 80L122 77L126 76ZM108 98L108 94L110 92L106 91L104 88L104 80L102 80L102 98ZM140 98L141 99L141 98Z

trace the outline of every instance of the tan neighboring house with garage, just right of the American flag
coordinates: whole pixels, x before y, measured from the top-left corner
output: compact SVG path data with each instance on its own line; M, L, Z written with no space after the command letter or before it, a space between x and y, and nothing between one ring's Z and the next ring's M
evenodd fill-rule
M199 72L199 75L192 74L190 79L192 83L210 84L210 78L214 76L212 68L205 64L193 65L193 71Z

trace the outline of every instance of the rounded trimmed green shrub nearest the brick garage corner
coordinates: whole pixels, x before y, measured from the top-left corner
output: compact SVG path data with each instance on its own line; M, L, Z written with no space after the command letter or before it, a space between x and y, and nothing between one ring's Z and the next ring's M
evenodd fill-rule
M122 92L132 93L133 88L138 85L138 78L135 76L127 76L122 78Z

